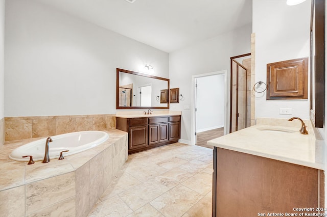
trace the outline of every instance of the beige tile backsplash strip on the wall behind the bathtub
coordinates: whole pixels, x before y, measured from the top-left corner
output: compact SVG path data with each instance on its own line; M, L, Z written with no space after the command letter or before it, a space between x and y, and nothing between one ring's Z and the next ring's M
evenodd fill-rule
M5 117L0 120L0 147L5 141L50 137L84 130L115 129L116 120L114 116L115 115L67 115ZM2 141L4 142L2 143Z

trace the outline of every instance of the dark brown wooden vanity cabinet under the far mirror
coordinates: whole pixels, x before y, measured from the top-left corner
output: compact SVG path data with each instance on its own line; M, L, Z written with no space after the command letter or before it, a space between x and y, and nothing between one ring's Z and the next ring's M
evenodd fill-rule
M116 118L117 129L129 133L128 154L178 142L181 116Z

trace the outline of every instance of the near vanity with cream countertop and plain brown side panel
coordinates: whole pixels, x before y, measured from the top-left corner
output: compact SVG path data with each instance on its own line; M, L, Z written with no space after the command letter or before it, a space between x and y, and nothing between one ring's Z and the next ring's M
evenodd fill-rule
M214 146L213 216L325 211L319 210L324 207L323 141L311 125L304 135L298 123L276 122L257 120L257 125L208 142Z

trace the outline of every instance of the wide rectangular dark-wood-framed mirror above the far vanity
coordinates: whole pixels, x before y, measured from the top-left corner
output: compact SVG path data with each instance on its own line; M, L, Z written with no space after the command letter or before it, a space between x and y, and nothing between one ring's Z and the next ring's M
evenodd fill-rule
M161 90L169 90L169 79L116 69L116 109L168 109L160 102Z

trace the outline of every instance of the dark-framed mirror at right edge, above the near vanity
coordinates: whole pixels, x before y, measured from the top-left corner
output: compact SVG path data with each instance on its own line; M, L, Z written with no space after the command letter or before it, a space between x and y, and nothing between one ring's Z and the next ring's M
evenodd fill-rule
M310 25L310 119L315 127L324 124L324 14L325 1L312 0Z

